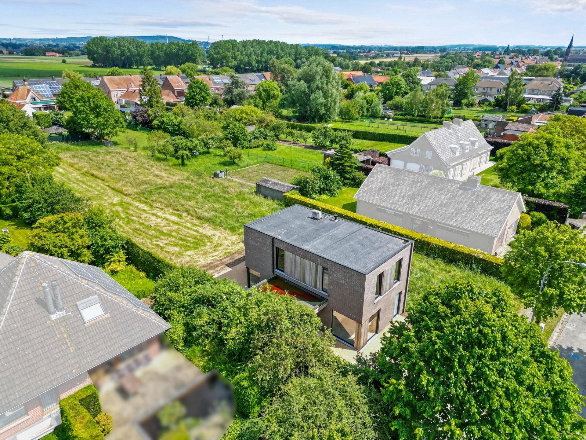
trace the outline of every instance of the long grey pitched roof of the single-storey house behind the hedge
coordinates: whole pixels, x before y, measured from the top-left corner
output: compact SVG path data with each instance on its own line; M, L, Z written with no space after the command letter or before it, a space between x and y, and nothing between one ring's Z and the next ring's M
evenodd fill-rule
M493 237L513 206L523 203L519 192L485 185L466 189L466 182L379 164L354 198Z

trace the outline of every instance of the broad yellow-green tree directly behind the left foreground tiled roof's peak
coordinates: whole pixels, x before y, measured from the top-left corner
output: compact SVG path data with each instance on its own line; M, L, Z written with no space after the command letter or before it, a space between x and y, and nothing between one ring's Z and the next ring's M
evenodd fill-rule
M91 240L83 221L83 215L74 212L40 219L28 235L28 249L80 263L91 262Z

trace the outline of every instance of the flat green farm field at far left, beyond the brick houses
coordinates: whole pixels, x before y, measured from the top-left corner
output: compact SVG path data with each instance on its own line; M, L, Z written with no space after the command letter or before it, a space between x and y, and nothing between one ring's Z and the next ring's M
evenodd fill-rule
M63 63L62 60L67 60ZM47 57L47 56L0 56L0 86L12 86L13 79L61 77L63 70L75 70L84 76L103 75L108 69L91 66L85 56L76 57ZM138 73L140 69L122 69L124 73ZM154 70L161 73L161 70Z

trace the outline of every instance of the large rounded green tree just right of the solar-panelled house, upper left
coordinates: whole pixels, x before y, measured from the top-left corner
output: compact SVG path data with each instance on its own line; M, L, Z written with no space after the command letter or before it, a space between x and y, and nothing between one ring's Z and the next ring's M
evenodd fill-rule
M66 127L76 133L90 133L105 139L116 136L124 126L124 119L113 101L91 84L89 90L81 92L67 105L72 114L67 118Z

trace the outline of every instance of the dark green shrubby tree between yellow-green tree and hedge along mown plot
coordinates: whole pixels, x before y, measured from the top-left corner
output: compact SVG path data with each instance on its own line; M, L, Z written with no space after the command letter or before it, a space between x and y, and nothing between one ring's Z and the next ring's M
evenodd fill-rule
M91 205L83 212L83 224L90 239L93 264L104 266L111 255L122 252L126 240L114 228L114 216L103 207Z

